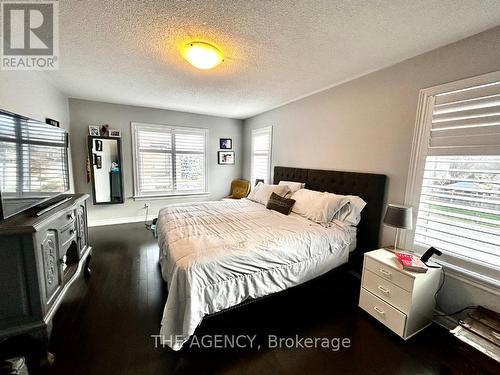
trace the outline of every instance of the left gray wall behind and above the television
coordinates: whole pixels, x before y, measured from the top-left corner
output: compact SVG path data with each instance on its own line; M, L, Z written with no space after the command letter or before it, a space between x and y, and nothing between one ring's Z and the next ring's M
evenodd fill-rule
M69 131L68 97L52 86L41 72L0 71L0 108L45 122L57 120ZM70 158L70 188L73 178Z

